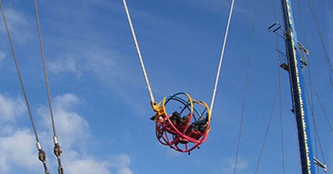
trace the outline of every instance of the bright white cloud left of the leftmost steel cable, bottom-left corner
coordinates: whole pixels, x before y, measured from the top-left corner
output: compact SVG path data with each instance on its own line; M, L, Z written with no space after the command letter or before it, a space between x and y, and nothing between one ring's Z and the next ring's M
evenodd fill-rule
M16 125L25 113L22 99L0 94L0 173L12 173L13 166L34 170L39 163L30 129Z

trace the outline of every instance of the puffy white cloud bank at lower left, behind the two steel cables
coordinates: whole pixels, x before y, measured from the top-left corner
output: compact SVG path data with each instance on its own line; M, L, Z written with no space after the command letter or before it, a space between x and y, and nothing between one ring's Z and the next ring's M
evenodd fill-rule
M7 117L22 115L16 113L13 108L23 107L20 100L0 95L0 111ZM87 153L85 146L77 144L89 144L91 141L89 123L80 114L75 112L75 106L83 101L73 94L64 94L55 97L54 118L59 144L64 153L61 156L64 171L67 174L133 174L130 169L131 158L126 154L113 156L111 160L98 159ZM8 106L8 107L4 107ZM9 108L9 109L8 109ZM52 136L51 121L47 106L38 109L41 117L37 117L36 123L42 123L38 135L43 149L47 152L47 164L50 172L57 169L56 158L49 152L53 148L50 136ZM47 127L46 127L47 126ZM17 128L13 121L0 127L0 173L15 173L15 168L27 169L27 173L43 171L42 164L37 157L37 148L34 135L29 128ZM46 143L46 144L45 144ZM53 172L52 172L53 173ZM112 172L114 173L114 172Z

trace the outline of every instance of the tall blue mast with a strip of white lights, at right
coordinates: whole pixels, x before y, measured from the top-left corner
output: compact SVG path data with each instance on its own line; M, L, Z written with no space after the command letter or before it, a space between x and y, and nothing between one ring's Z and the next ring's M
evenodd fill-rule
M291 2L281 0L284 22L284 38L286 55L288 61L290 87L293 100L293 113L295 114L298 144L301 160L302 174L315 174L312 145L310 137L310 126L308 121L305 90L303 86L301 58L299 49L301 48L296 36Z

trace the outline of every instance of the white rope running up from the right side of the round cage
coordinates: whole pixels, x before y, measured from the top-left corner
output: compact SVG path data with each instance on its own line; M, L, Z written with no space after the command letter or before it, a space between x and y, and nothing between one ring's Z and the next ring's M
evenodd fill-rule
M223 40L220 62L219 62L219 65L218 65L216 79L215 79L215 86L214 86L214 90L213 90L213 96L212 96L211 102L210 102L210 112L212 112L212 110L213 110L215 94L216 94L216 89L217 89L217 83L218 83L218 78L220 76L220 70L221 70L221 65L222 65L222 60L223 60L224 48L225 48L225 43L226 43L227 36L228 36L228 30L229 30L229 25L230 25L230 20L231 20L231 15L232 15L232 10L233 10L234 3L235 3L235 0L232 0L231 7L230 7L230 12L229 12L229 19L228 19L228 23L227 23L227 28L225 30L225 35L224 35L224 40Z

